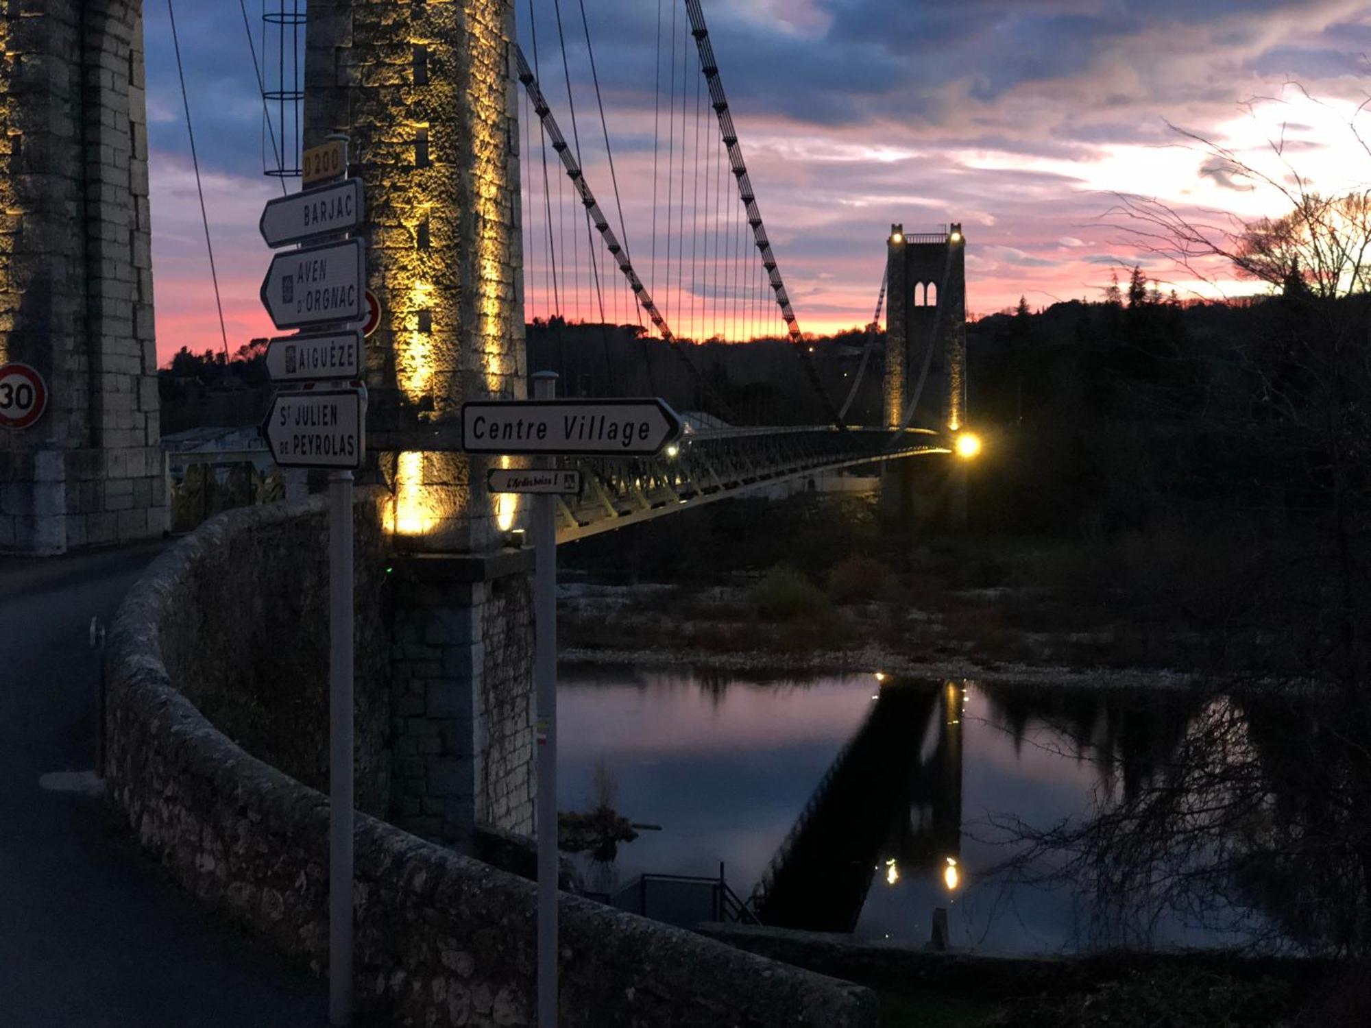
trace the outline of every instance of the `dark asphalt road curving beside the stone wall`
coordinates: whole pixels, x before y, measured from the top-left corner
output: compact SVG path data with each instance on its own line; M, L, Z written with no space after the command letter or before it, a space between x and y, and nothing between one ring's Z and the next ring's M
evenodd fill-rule
M95 768L90 618L159 548L0 558L0 1025L324 1025L319 979L195 907L62 774Z

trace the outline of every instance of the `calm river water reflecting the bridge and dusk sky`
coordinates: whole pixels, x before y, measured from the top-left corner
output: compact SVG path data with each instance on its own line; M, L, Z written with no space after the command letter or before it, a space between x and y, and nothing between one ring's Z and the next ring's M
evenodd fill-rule
M1196 717L1168 691L875 672L572 668L558 698L559 807L595 805L599 766L620 813L661 827L610 864L583 859L592 888L644 872L717 877L723 864L771 924L923 944L941 907L953 946L998 953L1139 942L1137 929L1102 933L1069 880L1041 880L1058 857L1006 866L1026 853L1015 824L1046 829L1135 795ZM1249 928L1265 924L1243 913ZM1246 938L1175 911L1152 917L1143 936L1160 947Z

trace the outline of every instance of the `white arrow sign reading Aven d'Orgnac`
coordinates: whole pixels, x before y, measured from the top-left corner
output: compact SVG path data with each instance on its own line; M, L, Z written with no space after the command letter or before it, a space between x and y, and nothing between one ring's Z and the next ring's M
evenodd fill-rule
M278 329L361 321L366 314L365 292L365 256L358 238L277 254L262 280L262 304Z

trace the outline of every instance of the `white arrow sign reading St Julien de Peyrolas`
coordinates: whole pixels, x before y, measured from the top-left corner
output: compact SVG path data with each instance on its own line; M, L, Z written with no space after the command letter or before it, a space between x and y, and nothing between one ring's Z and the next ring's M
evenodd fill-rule
M278 392L262 435L281 467L361 467L366 458L366 389Z

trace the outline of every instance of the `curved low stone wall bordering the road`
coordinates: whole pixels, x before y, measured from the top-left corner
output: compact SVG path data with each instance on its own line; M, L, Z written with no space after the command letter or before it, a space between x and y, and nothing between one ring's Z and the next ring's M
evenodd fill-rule
M315 969L326 965L328 799L245 752L189 696L223 702L232 677L215 662L255 666L284 611L251 596L265 569L319 573L322 521L319 500L210 521L125 599L106 665L106 777L141 844L203 902ZM359 563L380 558L367 550L381 540L370 495L358 540ZM292 626L310 614L291 611ZM363 637L367 617L359 602ZM230 646L197 644L211 624ZM354 902L363 1003L403 1025L532 1023L532 883L359 814ZM561 918L568 1028L875 1024L871 994L847 983L565 894Z

